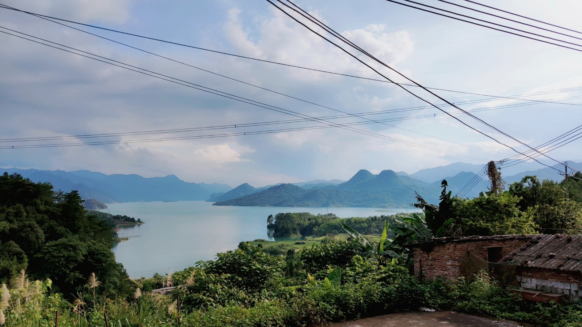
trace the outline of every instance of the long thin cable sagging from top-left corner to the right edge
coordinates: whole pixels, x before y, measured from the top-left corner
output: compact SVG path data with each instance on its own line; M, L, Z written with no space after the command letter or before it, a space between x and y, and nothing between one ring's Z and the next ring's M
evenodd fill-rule
M3 9L10 9L10 10L15 10L15 11L17 11L17 12L22 12L22 13L27 13L27 14L29 14L29 15L33 15L33 16L36 16L36 17L40 17L40 18L43 18L43 19L49 20L49 21L51 21L51 22L54 22L54 20L51 20L51 19L56 19L56 20L61 20L62 22L68 22L68 23L78 24L78 25L81 25L81 26L93 27L93 28L95 28L95 29L101 29L101 30L106 30L106 31L112 31L112 32L115 32L115 33L120 33L120 34L131 35L131 36L134 36L134 37L145 38L145 39L148 39L148 40L153 40L153 41L165 42L165 43L168 43L168 44L179 45L179 46L181 46L181 47L187 47L187 48L199 49L199 50L203 50L203 51L214 52L214 53L217 53L217 54L223 54L223 55L235 56L235 57L238 57L238 58L250 59L250 60L253 60L253 61L259 61L259 62L267 62L267 63L273 63L273 64L275 64L275 65L282 65L282 66L288 66L288 67L294 67L294 68L300 68L300 69L306 69L306 70L313 70L313 71L315 71L315 72L328 73L328 74L335 74L335 75L339 75L339 76L345 76L345 77L353 77L353 78L356 78L356 79L364 79L364 80L380 81L380 82L382 82L382 83L393 83L393 84L398 84L398 83L394 83L393 81L389 81L389 80L371 79L371 78L368 78L368 77L355 76L355 75L350 75L350 74L342 74L342 73L337 73L337 72L329 72L329 71L327 71L327 70L314 69L314 68L308 68L308 67L302 67L302 66L296 66L296 65L289 65L289 64L287 64L287 63L281 63L281 62L275 62L275 61L268 61L268 60L265 60L265 59L252 58L252 57L249 57L249 56L242 56L242 55L229 54L228 52L216 51L216 50L212 50L212 49L206 49L206 48L201 48L201 47L194 47L193 45L181 44L181 43L178 43L178 42L172 42L172 41L161 40L161 39L158 39L158 38L147 37L147 36L144 36L144 35L133 34L133 33L127 33L127 32L124 32L124 31L113 30L113 29L107 29L107 28L105 28L105 27L95 26L95 25L91 25L91 24L84 24L84 23L74 22L74 21L72 21L72 20L66 20L66 19L61 19L61 18L57 18L57 17L47 16L47 15L41 15L41 14L39 14L39 13L27 12L27 11L20 10L20 9L16 9L16 8L13 8L13 7L10 7L10 6L7 6L7 5L3 5L2 3L0 3L0 8L3 8ZM58 23L58 22L54 22L54 23ZM63 26L67 26L67 27L71 27L71 26L69 26L69 25L62 24L62 23L58 23L58 24L61 24L61 25L63 25ZM73 29L76 29L76 28L74 28L74 27L71 27L71 28L73 28ZM81 30L81 29L76 29L76 30L82 31L82 32L84 32L84 33L87 33L87 34L95 35L95 36L97 36L97 37L100 37L100 38L104 38L105 40L109 40L109 41L112 41L112 42L116 42L116 43L119 43L119 44L123 44L122 42L114 41L114 40L111 40L111 39L109 39L109 38L102 37L101 35L97 35L97 34L94 34L94 33L90 33L90 32L88 32L88 31L84 31L84 30ZM127 47L132 47L131 45L127 45L127 44L123 44L123 45L126 45ZM134 48L134 49L138 49L138 48L136 48L136 47L132 47L132 48ZM141 50L141 49L139 49L139 50L140 50L140 51L143 51L143 50ZM148 52L148 53L151 53L151 52ZM164 58L165 58L165 57L164 57ZM170 59L170 60L172 60L172 59ZM178 61L176 61L176 62L178 62ZM182 63L182 62L180 62L180 63ZM186 63L182 63L182 64L184 64L184 65L187 65ZM196 67L196 68L198 68L198 67ZM402 85L405 85L405 86L418 87L417 85L414 85L414 84L404 84L404 83L399 83L399 84L402 84ZM447 89L444 89L444 88L435 88L435 87L427 87L427 88L429 88L429 89L431 89L431 90L447 91L447 92L453 92L453 93L463 93L463 94L471 94L471 95L482 95L482 96L486 96L486 97L496 97L496 98L515 99L515 98L512 98L512 97L499 97L499 96L496 96L496 95L480 94L480 93L471 93L471 92L465 92L465 91L447 90ZM548 102L548 103L558 103L558 104L564 104L564 103L562 103L562 102L549 102L549 101L540 101L540 100L531 100L531 99L528 99L527 101L535 101L535 102ZM569 105L580 105L580 104L569 104Z

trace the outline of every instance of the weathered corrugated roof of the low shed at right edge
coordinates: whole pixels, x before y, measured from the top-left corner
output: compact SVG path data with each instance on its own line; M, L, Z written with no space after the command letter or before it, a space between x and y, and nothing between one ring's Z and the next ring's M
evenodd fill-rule
M502 262L531 268L582 271L582 235L540 234Z

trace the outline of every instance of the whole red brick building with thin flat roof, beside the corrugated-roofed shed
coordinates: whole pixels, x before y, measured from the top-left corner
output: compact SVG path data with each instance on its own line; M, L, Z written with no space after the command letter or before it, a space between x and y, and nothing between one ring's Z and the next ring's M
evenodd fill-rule
M535 236L439 237L406 247L413 250L414 276L418 279L471 279L475 272L489 270L489 262L501 261Z

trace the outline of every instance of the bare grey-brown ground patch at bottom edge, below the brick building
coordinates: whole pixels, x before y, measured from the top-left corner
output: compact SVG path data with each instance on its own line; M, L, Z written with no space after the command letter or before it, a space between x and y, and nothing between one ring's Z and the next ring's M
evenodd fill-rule
M510 321L494 321L451 311L406 312L382 315L356 321L340 322L330 327L517 327Z

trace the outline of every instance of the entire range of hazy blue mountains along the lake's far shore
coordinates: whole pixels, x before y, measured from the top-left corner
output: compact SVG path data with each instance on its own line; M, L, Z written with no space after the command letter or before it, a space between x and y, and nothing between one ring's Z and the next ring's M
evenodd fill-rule
M105 175L89 170L65 172L18 168L0 168L0 173L20 173L33 182L51 182L55 190L77 190L84 199L93 198L105 203L205 200L216 202L216 205L402 208L414 202L414 191L427 201L437 202L442 179L447 180L449 190L456 194L474 179L475 173L480 172L483 166L455 162L412 174L383 170L374 175L368 170L360 170L347 182L318 179L262 187L244 183L235 189L226 184L187 183L175 175L145 178L139 175ZM503 180L508 184L519 182L526 175L557 182L563 179L555 169L546 167L536 170L537 166L534 163L519 162L503 168ZM582 170L582 163L569 162L569 166ZM563 170L563 166L558 164L555 168ZM476 197L481 191L487 190L487 177L482 177L473 180L474 187L464 194L465 197Z

